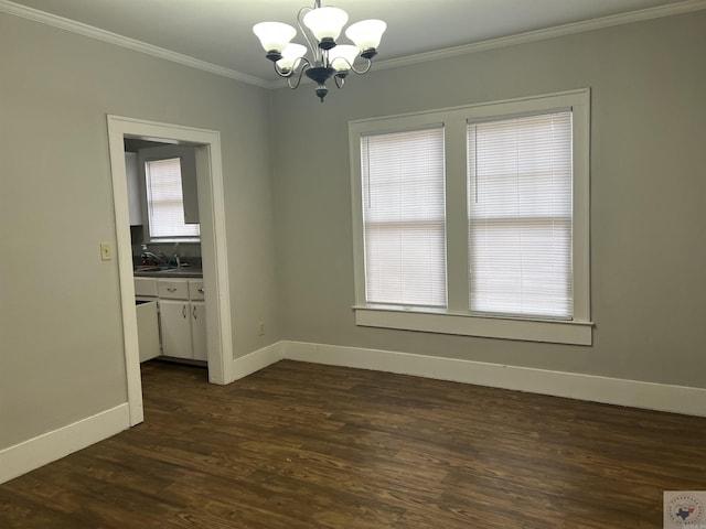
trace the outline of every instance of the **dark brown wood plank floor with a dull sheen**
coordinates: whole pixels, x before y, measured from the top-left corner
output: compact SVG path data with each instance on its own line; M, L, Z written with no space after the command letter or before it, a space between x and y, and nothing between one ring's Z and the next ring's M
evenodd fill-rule
M662 528L706 419L280 361L142 367L146 421L0 485L6 528Z

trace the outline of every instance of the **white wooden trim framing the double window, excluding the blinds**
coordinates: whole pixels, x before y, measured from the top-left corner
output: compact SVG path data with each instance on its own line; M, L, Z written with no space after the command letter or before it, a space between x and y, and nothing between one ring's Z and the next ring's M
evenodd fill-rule
M468 241L466 213L466 123L491 117L511 117L571 108L574 138L573 277L574 319L554 321L471 315L468 312ZM365 253L361 191L361 137L443 122L447 130L447 256L449 306L429 311L365 303ZM590 89L483 102L441 110L373 118L349 123L355 323L361 326L429 333L483 336L531 342L591 345L590 320ZM461 229L461 226L463 229ZM451 242L451 239L459 242Z

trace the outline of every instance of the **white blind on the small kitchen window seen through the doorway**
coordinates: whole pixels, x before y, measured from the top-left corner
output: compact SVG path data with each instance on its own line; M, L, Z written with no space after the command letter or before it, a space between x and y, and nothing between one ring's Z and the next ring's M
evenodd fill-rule
M184 223L181 159L145 163L150 237L199 237L199 224Z

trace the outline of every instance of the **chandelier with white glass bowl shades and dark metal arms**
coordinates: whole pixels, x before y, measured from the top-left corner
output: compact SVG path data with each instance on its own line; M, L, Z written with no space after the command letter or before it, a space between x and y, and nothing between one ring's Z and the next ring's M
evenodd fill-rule
M329 93L327 80L331 77L338 88L343 88L351 72L362 75L371 69L372 60L377 55L377 46L387 28L382 20L363 20L345 30L345 36L355 45L338 44L336 40L347 20L349 15L342 9L322 8L321 0L314 0L312 8L301 8L297 14L297 24L309 44L308 48L290 42L297 35L297 30L289 24L260 22L253 26L253 32L267 52L265 56L275 64L277 75L285 77L288 86L295 89L301 76L307 74L317 83L317 96L323 102ZM311 56L307 56L308 52ZM354 62L359 56L366 62L356 67Z

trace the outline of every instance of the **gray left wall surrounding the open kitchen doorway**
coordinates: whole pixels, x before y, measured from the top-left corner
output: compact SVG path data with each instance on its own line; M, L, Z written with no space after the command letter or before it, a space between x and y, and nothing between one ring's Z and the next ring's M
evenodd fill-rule
M107 114L221 131L234 356L279 339L266 90L2 13L0 76L0 449L127 401Z

